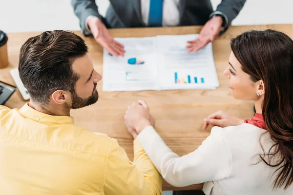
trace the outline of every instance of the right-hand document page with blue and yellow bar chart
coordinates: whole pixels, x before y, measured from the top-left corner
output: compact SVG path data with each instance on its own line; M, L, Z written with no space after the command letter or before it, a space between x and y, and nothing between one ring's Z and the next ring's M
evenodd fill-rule
M157 36L159 83L167 89L215 89L219 86L212 45L187 53L187 41L198 35Z

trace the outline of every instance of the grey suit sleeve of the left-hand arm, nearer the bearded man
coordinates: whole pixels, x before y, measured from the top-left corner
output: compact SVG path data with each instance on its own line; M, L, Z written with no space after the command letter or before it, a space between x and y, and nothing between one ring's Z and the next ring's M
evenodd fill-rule
M80 20L80 26L82 33L84 34L85 20L89 16L96 16L102 20L102 16L99 14L98 6L95 0L71 0L75 15ZM103 21L103 20L102 20Z

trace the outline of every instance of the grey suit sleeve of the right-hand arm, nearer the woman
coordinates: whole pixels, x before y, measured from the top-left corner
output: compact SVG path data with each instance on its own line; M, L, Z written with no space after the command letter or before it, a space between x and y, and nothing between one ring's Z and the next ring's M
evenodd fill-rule
M231 25L232 20L236 18L242 9L246 0L222 0L218 5L217 10L225 14L228 18L228 26Z

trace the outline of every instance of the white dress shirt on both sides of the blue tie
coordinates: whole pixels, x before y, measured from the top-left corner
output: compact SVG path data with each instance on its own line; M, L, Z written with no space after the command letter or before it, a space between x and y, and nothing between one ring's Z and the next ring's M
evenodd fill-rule
M141 12L144 23L148 24L149 2L141 1ZM177 26L179 24L179 0L164 0L163 2L163 26Z

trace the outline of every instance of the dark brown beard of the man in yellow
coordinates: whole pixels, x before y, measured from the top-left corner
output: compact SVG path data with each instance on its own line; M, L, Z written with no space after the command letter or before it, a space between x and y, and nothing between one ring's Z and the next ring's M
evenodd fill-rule
M98 91L96 90L96 86L97 84L94 85L93 93L89 98L79 97L76 91L71 93L71 99L72 99L71 109L79 109L79 108L83 108L85 106L89 106L91 104L96 103L99 99L99 94L98 94Z

